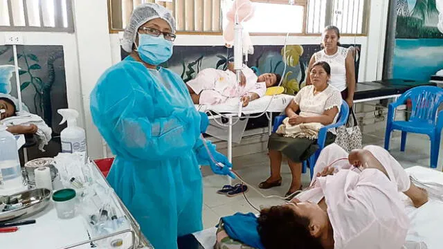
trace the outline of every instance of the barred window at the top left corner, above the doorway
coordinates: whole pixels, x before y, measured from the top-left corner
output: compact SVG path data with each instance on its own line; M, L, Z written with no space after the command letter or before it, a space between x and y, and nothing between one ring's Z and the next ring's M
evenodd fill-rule
M70 0L0 0L1 31L74 32Z

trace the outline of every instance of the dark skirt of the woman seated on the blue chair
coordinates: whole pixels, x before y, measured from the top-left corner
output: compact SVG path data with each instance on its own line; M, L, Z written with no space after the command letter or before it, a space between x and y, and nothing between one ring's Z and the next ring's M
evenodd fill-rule
M335 138L336 136L328 131L325 146L332 144ZM278 133L272 133L269 136L268 149L281 151L284 156L287 156L294 163L301 163L317 151L318 145L316 139L287 138Z

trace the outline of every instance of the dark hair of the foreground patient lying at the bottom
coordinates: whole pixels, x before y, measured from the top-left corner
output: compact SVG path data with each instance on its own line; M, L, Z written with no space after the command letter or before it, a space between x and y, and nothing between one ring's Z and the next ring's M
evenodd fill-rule
M311 221L285 206L260 212L257 231L266 249L324 249L320 239L311 235Z

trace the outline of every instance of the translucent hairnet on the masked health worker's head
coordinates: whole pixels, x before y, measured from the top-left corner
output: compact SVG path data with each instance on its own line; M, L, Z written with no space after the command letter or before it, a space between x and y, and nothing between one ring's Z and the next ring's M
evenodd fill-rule
M132 44L134 44L136 39L138 28L147 23L147 21L156 18L161 18L168 22L172 33L175 33L175 19L167 8L157 3L144 3L132 12L129 24L127 24L125 33L123 33L122 47L127 53L132 51Z

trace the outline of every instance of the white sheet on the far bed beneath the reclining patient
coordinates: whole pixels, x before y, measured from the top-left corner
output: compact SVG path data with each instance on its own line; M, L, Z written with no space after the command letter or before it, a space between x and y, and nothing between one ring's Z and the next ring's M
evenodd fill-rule
M275 96L263 96L257 100L249 102L247 107L243 107L242 113L253 114L269 112L281 112L287 107L294 98L293 95L279 94ZM198 111L216 111L217 113L238 113L239 98L229 98L223 104L206 105L195 104ZM271 103L270 103L271 102Z

